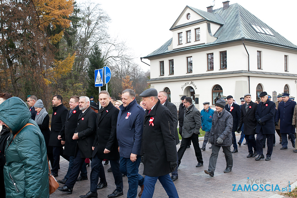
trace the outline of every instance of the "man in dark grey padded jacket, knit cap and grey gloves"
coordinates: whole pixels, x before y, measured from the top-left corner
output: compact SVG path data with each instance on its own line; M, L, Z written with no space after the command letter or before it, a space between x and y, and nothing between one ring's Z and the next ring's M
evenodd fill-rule
M216 102L216 112L212 118L212 125L210 130L210 137L208 142L212 145L212 153L209 158L208 170L204 172L210 176L214 176L216 169L219 150L222 147L226 158L226 169L224 172L230 172L233 166L233 158L230 146L232 145L232 115L225 110L225 101L218 99Z

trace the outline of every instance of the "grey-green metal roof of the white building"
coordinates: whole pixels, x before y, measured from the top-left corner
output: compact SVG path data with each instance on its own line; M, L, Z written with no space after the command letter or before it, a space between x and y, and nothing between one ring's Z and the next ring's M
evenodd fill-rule
M212 13L205 12L193 7L189 8L208 21L222 24L218 31L213 35L214 37L217 37L217 40L203 45L193 45L190 47L182 47L176 50L168 50L168 46L172 42L171 38L164 45L159 47L159 49L155 50L154 52L150 53L148 56L143 58L150 58L153 56L159 56L163 54L175 53L201 47L208 47L211 45L220 45L228 42L241 40L242 37L244 37L245 40L249 40L252 42L266 43L269 45L297 50L296 45L294 45L285 37L274 31L266 23L258 19L255 15L253 15L252 13L247 11L247 9L245 9L237 3L230 5L227 9L215 9L212 11ZM268 28L274 34L274 36L258 33L252 27L251 24ZM171 29L172 28L174 29L175 27L171 27Z

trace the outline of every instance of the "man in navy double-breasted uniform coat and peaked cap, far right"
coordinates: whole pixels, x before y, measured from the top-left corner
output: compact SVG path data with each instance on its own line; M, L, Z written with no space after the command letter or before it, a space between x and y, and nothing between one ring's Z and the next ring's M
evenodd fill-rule
M275 125L278 125L280 119L280 134L282 135L282 148L281 150L288 149L287 135L290 137L292 146L295 148L295 126L292 125L294 108L296 102L289 99L287 93L282 93L283 101L279 103L277 115L275 117Z

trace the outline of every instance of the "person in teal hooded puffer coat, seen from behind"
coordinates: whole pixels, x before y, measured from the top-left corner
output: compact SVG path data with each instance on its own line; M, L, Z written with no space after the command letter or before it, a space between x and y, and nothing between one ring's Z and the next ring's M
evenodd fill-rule
M49 197L45 140L38 125L31 119L25 102L12 97L1 103L0 123L2 122L11 130L4 153L6 197ZM33 125L23 128L27 123ZM15 136L20 129L22 130Z

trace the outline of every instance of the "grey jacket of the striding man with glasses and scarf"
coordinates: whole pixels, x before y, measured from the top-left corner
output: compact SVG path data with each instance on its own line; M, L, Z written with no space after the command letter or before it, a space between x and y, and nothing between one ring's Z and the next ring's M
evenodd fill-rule
M181 136L183 138L191 137L193 133L200 134L201 127L200 111L196 107L192 107L188 113L184 115L184 126Z

